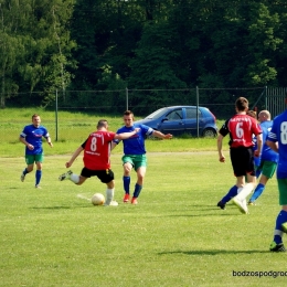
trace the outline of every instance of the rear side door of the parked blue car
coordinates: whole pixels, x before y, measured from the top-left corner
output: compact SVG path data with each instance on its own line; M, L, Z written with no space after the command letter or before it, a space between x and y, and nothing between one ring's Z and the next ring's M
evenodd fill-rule
M199 135L201 135L202 129L204 127L204 119L202 113L199 110ZM184 132L198 136L198 115L196 115L196 107L185 107L184 108Z

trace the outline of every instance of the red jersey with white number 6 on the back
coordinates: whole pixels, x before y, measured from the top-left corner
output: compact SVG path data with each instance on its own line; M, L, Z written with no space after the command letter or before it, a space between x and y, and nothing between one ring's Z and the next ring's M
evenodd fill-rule
M235 115L225 121L220 129L220 134L223 137L230 134L231 148L251 148L254 146L253 136L262 134L262 129L255 118L247 115Z

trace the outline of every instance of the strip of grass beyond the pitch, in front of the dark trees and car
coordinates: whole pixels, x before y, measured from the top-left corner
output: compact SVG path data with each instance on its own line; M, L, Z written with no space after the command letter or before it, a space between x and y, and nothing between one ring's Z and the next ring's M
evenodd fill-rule
M44 144L44 152L47 156L72 153L87 138L88 134L96 129L96 124L100 118L108 120L109 130L113 131L116 131L124 124L121 115L116 117L109 115L59 111L56 125L54 111L32 108L2 109L0 113L0 157L23 156L24 146L19 142L19 135L25 125L31 124L31 116L35 113L41 116L42 125L49 129L54 144L53 149ZM223 120L217 120L219 126L221 126ZM225 144L227 148L227 140ZM173 138L172 140L148 139L146 146L147 150L155 152L214 150L214 148L216 148L216 139L187 137ZM121 153L121 148L117 148L113 152Z

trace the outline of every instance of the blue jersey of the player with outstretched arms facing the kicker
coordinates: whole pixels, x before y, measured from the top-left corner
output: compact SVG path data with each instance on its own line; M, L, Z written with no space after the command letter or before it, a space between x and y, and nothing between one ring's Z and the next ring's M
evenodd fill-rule
M130 138L123 139L125 155L145 155L146 153L145 139L147 136L150 136L153 132L153 129L148 126L141 124L134 124L132 127L124 126L123 128L117 130L117 134L130 132L135 128L140 128L140 130L136 135L131 136ZM119 142L118 139L114 139L114 141L116 144Z

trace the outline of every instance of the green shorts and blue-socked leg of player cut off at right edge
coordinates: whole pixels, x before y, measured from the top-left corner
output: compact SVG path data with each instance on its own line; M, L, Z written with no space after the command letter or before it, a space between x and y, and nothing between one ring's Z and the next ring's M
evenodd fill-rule
M283 244L283 234L287 233L287 179L277 179L278 190L279 190L279 204L281 205L281 211L277 215L274 240L270 244L269 249L272 252L285 252L285 246Z

